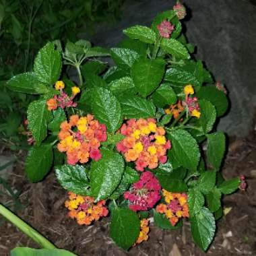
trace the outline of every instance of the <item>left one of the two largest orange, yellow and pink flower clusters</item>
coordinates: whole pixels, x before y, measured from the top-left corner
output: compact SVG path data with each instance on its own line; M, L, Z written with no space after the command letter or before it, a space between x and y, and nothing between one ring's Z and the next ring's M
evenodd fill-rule
M57 148L60 152L67 152L68 164L84 164L89 158L98 161L102 157L100 142L107 139L106 125L100 124L93 115L80 118L72 115L69 122L61 123L59 139Z

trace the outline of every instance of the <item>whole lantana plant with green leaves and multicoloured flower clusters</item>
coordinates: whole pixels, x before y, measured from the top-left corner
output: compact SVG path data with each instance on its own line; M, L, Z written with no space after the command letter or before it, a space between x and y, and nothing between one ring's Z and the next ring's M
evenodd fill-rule
M28 179L41 181L54 166L69 192L69 217L90 225L110 215L110 236L126 250L148 240L150 221L173 230L183 220L207 250L222 217L222 195L241 185L220 172L226 141L215 124L228 108L226 90L192 57L182 33L185 15L177 3L150 28L125 29L111 49L85 40L65 49L49 42L33 71L7 83L38 95L28 106L34 139ZM67 76L70 66L75 82Z

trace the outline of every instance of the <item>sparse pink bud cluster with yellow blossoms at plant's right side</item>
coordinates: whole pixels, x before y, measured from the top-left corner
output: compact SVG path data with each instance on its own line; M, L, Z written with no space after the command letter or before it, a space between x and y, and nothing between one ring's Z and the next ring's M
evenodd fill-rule
M189 110L189 115L191 115L191 117L200 118L201 113L199 112L200 108L199 108L197 97L189 97L189 94L194 94L193 87L190 84L185 86L184 92L186 97L185 97L185 102L183 102L183 105L187 106Z

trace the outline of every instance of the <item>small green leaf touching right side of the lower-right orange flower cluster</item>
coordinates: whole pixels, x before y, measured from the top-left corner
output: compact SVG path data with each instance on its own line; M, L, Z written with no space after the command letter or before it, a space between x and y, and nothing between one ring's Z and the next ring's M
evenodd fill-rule
M198 189L189 189L189 216L193 217L204 204L203 194Z

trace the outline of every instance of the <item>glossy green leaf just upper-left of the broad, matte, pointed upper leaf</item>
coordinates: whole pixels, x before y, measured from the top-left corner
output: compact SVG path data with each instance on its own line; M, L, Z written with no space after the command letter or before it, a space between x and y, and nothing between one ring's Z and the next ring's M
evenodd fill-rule
M129 69L139 59L139 54L131 49L111 48L111 57L121 69Z

